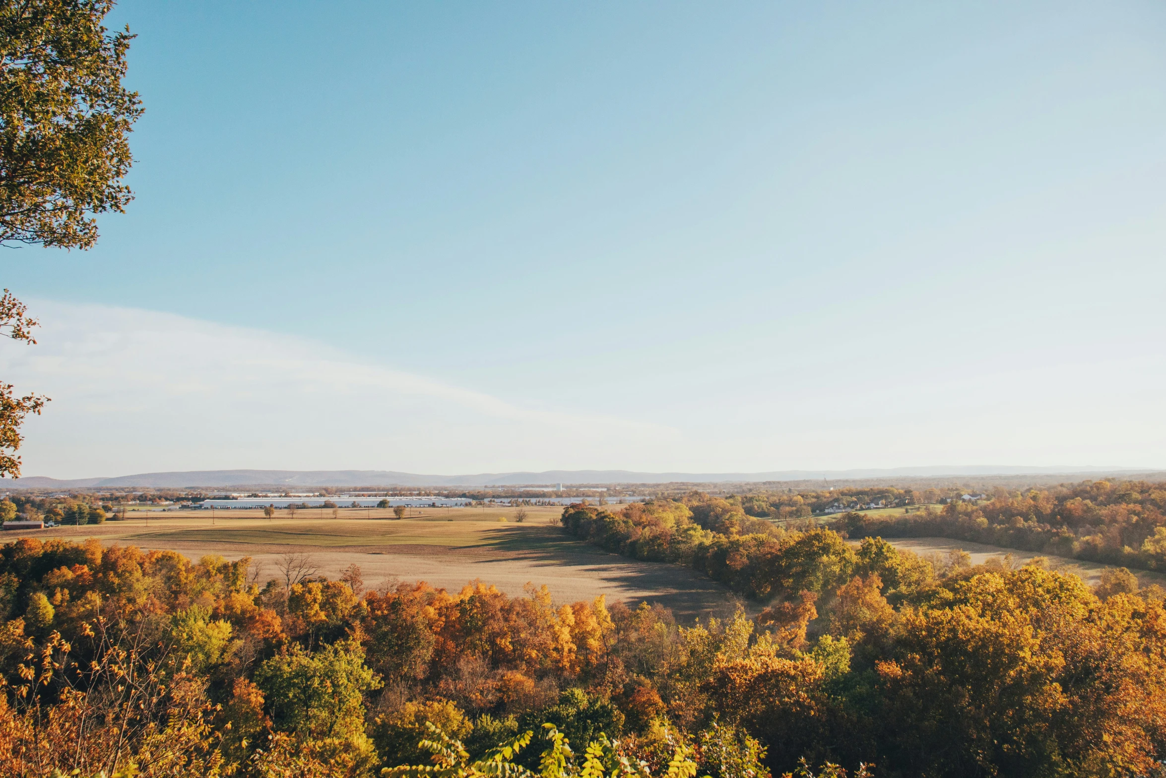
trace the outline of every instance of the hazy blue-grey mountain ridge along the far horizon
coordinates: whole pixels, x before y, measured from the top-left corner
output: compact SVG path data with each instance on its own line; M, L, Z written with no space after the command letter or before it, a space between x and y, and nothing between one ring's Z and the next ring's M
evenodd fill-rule
M577 484L662 483L760 483L766 481L849 481L854 478L927 478L937 476L996 476L1051 474L1137 474L1154 468L1101 468L1065 465L935 465L915 468L866 468L855 470L777 470L771 472L635 472L631 470L545 470L542 472L485 472L440 476L394 470L185 470L142 472L113 478L58 479L31 476L13 479L15 489L206 489L227 486L515 486ZM0 482L0 486L2 486Z

